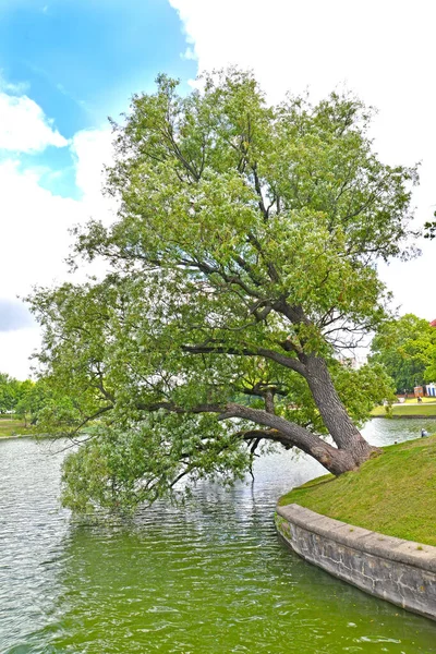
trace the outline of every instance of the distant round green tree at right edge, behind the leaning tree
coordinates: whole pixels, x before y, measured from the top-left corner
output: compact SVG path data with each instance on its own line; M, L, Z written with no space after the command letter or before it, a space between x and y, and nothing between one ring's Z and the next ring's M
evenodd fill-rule
M413 314L385 323L372 342L372 361L385 366L398 392L436 379L436 329Z

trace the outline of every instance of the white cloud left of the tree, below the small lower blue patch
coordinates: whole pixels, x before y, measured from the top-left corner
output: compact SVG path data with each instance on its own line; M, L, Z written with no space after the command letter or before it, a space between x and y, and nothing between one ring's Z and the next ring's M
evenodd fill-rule
M110 164L107 130L78 132L71 143L80 201L61 197L40 185L43 172L22 170L19 159L0 162L0 300L25 296L33 286L52 286L69 277L64 263L72 237L69 230L90 217L113 220L114 203L101 196L102 166ZM101 266L81 271L98 274ZM4 302L4 305L8 303ZM19 378L29 374L28 356L39 346L39 328L0 332L0 372Z

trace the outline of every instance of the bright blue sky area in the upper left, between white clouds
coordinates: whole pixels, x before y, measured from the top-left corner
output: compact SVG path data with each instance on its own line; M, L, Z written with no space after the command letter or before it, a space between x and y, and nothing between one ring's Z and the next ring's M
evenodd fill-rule
M159 72L184 84L196 62L167 0L0 0L0 70L71 140L117 120L134 93L150 92ZM187 86L186 86L187 88ZM7 93L11 94L11 90ZM69 147L21 156L41 186L78 197Z

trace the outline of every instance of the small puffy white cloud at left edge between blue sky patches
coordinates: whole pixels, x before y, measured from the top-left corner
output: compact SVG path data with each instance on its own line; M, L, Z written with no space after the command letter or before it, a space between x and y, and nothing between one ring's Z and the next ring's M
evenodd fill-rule
M43 109L26 95L0 92L0 149L14 153L64 147L68 141L52 126Z

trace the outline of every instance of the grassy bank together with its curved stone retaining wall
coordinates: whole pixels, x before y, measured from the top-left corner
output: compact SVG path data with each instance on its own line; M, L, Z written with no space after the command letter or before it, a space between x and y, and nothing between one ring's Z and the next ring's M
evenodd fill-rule
M281 496L276 528L308 562L436 620L436 434L383 450Z

